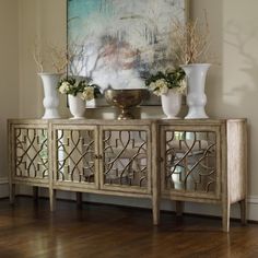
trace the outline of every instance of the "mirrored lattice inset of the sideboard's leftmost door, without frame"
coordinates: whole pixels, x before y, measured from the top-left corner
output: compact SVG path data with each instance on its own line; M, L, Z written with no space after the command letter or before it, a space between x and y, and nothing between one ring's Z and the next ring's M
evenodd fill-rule
M16 177L48 177L47 130L36 128L14 129L14 161Z

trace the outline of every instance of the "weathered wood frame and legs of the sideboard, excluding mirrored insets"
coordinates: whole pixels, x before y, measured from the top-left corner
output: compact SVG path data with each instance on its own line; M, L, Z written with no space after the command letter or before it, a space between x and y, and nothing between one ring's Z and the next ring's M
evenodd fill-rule
M48 130L48 164L49 178L17 178L15 177L15 128L39 128ZM56 149L55 130L57 129L93 130L95 136L95 178L92 184L69 184L55 180L56 173ZM144 190L136 187L105 187L102 184L102 133L105 129L112 130L143 130L148 134L148 187ZM216 190L214 195L203 192L180 192L164 190L164 130L194 130L197 132L212 131L216 136ZM35 119L10 119L8 121L9 140L9 186L10 201L13 203L15 197L15 185L27 185L45 187L49 189L50 210L55 210L56 191L68 190L75 192L93 192L121 197L148 198L152 200L153 224L160 222L161 199L176 201L177 212L181 209L184 201L216 203L222 207L223 231L230 230L231 204L239 202L242 222L246 223L246 198L247 198L247 121L246 119L189 119L189 120L35 120ZM80 199L80 194L78 194Z

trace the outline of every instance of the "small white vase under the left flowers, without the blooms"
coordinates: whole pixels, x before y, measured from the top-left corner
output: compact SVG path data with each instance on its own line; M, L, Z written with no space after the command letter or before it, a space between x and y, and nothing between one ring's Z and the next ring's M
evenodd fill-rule
M73 117L70 119L85 119L85 101L79 96L68 95L68 104L70 113Z

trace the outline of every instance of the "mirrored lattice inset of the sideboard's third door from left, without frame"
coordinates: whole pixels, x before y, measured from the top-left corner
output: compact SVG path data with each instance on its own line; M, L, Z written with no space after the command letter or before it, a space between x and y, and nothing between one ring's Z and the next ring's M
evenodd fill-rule
M104 184L146 187L146 131L104 131Z

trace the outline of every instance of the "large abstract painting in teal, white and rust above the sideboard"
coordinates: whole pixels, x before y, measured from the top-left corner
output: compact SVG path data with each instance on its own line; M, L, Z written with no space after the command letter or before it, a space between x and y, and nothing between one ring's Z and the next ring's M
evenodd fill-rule
M68 0L69 72L103 90L144 87L172 64L172 22L186 21L185 0Z

